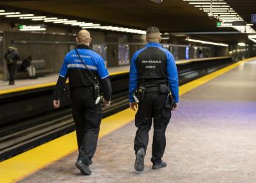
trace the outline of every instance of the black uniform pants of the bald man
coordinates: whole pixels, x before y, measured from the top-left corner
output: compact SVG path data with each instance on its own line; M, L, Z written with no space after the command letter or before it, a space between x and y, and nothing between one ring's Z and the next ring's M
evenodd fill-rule
M76 88L71 92L72 114L76 123L79 157L88 164L97 148L97 141L102 119L101 104L95 104L90 87Z

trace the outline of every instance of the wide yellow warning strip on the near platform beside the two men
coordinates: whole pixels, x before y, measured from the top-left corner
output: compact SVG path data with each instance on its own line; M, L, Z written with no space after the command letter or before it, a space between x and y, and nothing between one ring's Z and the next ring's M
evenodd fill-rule
M245 61L254 60L255 58L246 59L243 61L239 61L228 67L221 68L216 72L212 72L207 76L196 79L195 81L191 81L187 84L180 86L180 95L183 95L194 88L201 86L212 79L221 76L225 72L236 68L241 65ZM124 126L125 124L134 120L134 111L131 109L125 109L120 113L116 113L115 115L109 116L102 120L102 124L100 126L100 135L99 137L105 136L116 129ZM58 161L62 157L65 157L68 154L77 150L76 143L76 132L70 132L60 138L56 138L48 143L40 145L36 148L28 150L22 154L16 155L11 159L7 159L0 163L0 182L1 183L9 183L9 182L17 182L20 179L34 173L37 170L40 170L47 166L47 164L51 164L54 161Z

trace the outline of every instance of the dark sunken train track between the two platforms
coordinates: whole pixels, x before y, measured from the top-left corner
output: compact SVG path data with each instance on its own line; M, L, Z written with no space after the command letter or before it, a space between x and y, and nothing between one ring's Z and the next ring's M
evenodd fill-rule
M184 65L184 67L180 67L182 69L179 69L179 84L182 85L188 83L189 81L193 81L198 77L205 76L206 74L223 68L230 63L232 62L223 61L210 66L201 65L191 68ZM111 107L102 108L103 117L113 115L129 106L128 79L129 74L122 74L120 76L111 78L113 86L112 103ZM53 88L48 88L37 93L29 93L28 96L24 95L21 97L19 101L26 101L28 99L35 98L35 100L31 99L31 102L35 102L38 97L39 99L42 97L43 99L41 99L41 101L47 99L47 101L49 100L52 102L52 100L49 99L49 96L52 95L52 90ZM17 100L13 98L15 97L9 96L2 99L2 104L8 105L10 101ZM23 114L22 118L11 118L12 120L7 120L9 122L3 122L0 127L0 161L8 159L13 155L20 154L26 150L29 150L30 148L41 145L42 143L50 141L51 139L58 138L63 134L74 131L75 125L72 120L70 101L65 98L67 97L63 96L63 107L58 110L52 109L51 106L49 109L45 109L44 113L38 114L37 109L35 109L35 113L31 114L30 116L26 113ZM47 105L49 106L49 104Z

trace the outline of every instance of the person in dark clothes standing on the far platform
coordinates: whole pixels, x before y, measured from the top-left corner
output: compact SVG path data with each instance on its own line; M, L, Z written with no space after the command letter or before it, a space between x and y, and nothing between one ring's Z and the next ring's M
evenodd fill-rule
M8 47L8 50L6 54L4 55L4 58L7 62L7 68L9 72L9 85L14 85L14 77L15 77L15 71L17 67L17 61L20 60L19 52L17 48L15 47Z

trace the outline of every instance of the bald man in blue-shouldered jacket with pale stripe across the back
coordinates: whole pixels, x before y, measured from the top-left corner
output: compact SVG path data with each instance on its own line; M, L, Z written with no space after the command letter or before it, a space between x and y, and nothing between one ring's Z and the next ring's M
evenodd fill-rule
M102 56L89 46L92 42L90 33L84 29L79 31L76 41L77 49L68 52L61 67L53 106L60 107L60 95L68 78L79 150L76 166L84 175L91 175L89 165L97 147L102 118L100 88L103 102L109 106L111 83Z

